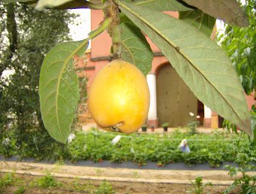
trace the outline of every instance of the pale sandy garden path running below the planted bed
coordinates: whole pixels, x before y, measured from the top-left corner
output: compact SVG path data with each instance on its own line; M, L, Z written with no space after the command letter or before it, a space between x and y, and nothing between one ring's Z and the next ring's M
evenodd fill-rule
M0 172L17 174L45 175L51 172L56 177L80 178L89 180L107 180L129 183L191 184L196 177L203 177L204 182L216 185L232 184L225 170L148 170L134 168L100 168L47 163L29 163L0 161ZM248 172L255 175L256 172Z

